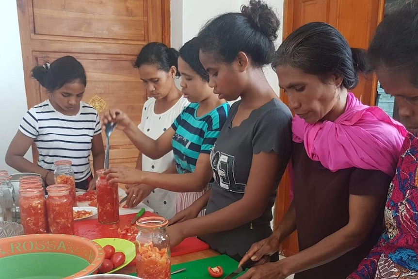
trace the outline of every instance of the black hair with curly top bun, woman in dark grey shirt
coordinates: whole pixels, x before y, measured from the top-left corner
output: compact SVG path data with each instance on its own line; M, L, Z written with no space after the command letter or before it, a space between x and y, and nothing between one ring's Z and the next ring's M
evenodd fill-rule
M280 21L262 1L250 0L241 13L226 13L211 19L199 32L200 50L232 63L242 51L254 66L271 63Z

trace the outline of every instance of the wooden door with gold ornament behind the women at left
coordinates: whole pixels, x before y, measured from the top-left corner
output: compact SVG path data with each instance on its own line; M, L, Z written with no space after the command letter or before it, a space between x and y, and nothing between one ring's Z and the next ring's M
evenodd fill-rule
M148 42L170 44L169 0L16 2L28 108L48 98L30 77L32 67L72 55L87 72L84 102L99 113L118 107L140 122L146 96L132 65ZM135 166L137 156L138 150L123 132L113 132L110 164Z

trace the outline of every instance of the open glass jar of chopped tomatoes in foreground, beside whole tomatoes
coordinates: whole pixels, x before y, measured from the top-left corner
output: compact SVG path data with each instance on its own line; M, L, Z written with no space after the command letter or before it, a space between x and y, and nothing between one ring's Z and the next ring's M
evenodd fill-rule
M170 278L170 238L168 221L163 217L145 217L136 222L136 273L143 279Z

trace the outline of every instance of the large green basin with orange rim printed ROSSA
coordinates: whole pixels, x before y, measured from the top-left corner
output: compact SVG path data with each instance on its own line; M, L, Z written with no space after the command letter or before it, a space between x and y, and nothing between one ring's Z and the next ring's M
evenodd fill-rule
M93 240L66 234L0 239L1 279L73 279L92 274L104 260ZM22 264L24 263L24 264Z

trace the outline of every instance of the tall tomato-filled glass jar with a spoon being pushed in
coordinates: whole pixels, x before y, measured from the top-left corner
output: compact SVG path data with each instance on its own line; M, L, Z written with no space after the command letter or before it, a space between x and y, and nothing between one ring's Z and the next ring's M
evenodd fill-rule
M119 222L118 184L109 183L103 171L96 171L97 221L100 224L113 224Z

